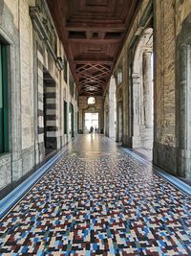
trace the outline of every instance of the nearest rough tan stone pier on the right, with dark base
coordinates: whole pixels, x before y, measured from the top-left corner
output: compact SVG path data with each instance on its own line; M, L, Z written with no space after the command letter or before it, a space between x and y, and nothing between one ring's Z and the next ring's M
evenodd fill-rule
M179 166L180 94L177 44L183 21L191 13L191 3L184 1L155 2L155 142L154 162L175 175L190 176ZM191 29L191 27L190 27ZM183 114L183 113L182 113ZM177 119L178 117L178 119Z

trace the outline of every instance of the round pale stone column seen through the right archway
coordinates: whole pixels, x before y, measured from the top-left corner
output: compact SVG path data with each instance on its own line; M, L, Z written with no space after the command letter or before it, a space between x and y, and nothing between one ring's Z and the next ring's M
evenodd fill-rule
M145 128L153 128L153 81L152 81L152 52L143 54L143 92Z

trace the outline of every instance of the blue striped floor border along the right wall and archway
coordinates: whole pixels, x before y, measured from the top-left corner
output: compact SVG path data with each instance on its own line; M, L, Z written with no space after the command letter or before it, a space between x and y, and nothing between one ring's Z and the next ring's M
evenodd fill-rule
M166 173L164 170L160 169L159 167L153 165L152 163L150 163L149 161L143 159L141 156L139 156L136 152L130 151L126 148L122 148L122 150L128 152L129 154L131 154L133 157L135 157L139 162L141 162L144 165L150 165L154 172L161 176L162 178L166 179L168 182L170 182L171 184L173 184L176 188L178 188L180 191L184 192L186 195L188 195L189 197L191 197L191 187L189 185L187 185L186 183L184 183L183 181L181 181L179 178L170 175L168 173Z

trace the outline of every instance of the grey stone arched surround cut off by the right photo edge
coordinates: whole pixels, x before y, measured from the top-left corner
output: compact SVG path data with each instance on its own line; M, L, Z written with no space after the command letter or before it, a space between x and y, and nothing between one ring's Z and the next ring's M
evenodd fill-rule
M191 14L182 23L176 52L178 173L191 178Z

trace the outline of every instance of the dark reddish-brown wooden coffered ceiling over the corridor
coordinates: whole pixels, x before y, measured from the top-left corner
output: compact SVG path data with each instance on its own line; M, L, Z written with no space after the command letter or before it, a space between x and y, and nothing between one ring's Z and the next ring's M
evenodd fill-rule
M79 95L103 95L140 0L47 0Z

